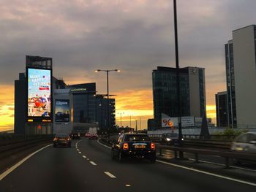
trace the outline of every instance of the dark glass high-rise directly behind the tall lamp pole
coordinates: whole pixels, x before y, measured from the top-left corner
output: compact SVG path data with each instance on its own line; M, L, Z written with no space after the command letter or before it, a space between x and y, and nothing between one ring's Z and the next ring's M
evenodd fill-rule
M178 117L176 68L158 66L153 70L154 120L161 126L161 115ZM206 85L203 68L178 69L180 78L181 116L203 117L206 113Z

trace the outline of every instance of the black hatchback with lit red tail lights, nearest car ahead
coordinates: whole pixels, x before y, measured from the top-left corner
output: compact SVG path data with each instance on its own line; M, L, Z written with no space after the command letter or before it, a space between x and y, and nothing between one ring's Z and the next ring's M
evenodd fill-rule
M156 146L147 134L121 134L111 148L112 159L119 162L124 158L145 158L154 163L156 161Z

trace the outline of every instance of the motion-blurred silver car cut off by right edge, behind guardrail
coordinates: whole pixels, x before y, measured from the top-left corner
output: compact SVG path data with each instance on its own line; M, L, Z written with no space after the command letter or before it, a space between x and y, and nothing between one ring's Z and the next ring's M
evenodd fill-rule
M255 153L256 154L256 133L248 132L245 134L241 134L231 145L231 150L241 153ZM233 159L235 164L241 164L243 160L242 155L241 158Z

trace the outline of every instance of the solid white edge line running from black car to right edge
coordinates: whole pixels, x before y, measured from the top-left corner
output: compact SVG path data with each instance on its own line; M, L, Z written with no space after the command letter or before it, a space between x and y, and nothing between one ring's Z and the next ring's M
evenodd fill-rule
M238 183L244 183L246 185L252 185L252 186L256 186L256 183L251 183L251 182L246 182L244 180L237 180L237 179L234 179L234 178L231 178L231 177L225 177L225 176L222 176L220 174L214 174L214 173L210 173L210 172L204 172L204 171L200 171L198 169L194 169L194 168L189 168L187 166L181 166L181 165L177 165L177 164L170 164L170 163L167 163L165 161L159 161L157 160L157 162L159 163L162 163L162 164L167 164L167 165L170 165L170 166L176 166L178 168L182 168L182 169L187 169L187 170L190 170L190 171L193 171L193 172L200 172L200 173L203 173L203 174L208 174L208 175L211 175L211 176L214 176L214 177L219 177L219 178L222 178L222 179L225 179L225 180L232 180L232 181L235 181L235 182L238 182Z

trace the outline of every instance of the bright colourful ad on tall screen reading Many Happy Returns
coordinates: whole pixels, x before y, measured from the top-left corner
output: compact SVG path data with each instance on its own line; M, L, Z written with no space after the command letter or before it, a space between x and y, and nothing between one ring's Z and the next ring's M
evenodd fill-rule
M28 69L28 117L50 117L50 81L48 69Z

